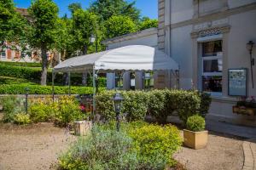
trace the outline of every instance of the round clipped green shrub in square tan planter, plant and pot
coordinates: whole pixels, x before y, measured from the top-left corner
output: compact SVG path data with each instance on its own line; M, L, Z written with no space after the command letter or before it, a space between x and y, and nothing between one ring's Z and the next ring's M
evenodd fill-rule
M202 116L189 116L186 129L183 130L184 144L195 150L206 147L208 131L205 127L206 122Z

